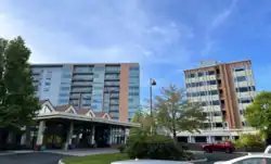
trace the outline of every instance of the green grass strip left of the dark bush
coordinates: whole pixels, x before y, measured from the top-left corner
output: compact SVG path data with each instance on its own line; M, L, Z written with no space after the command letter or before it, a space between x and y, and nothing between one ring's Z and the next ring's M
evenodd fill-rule
M114 161L129 160L126 154L112 153L112 154L96 154L88 156L73 156L64 159L65 164L111 164Z

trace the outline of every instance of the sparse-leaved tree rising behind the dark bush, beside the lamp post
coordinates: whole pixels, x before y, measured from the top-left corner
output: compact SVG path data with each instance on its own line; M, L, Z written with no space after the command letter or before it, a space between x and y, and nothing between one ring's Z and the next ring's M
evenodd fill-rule
M199 131L206 119L202 108L185 100L185 92L175 85L162 89L162 96L156 97L155 109L158 126L172 134L176 142L177 131Z

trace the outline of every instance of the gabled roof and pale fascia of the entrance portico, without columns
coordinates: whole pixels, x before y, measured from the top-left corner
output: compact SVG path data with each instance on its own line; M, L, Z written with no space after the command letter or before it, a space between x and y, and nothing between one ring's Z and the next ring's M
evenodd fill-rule
M87 123L102 123L108 125L118 125L124 127L140 127L140 124L119 122L111 118L107 112L93 112L91 109L74 109L73 105L65 104L60 106L53 106L49 100L40 102L41 109L35 119L69 119L76 122Z

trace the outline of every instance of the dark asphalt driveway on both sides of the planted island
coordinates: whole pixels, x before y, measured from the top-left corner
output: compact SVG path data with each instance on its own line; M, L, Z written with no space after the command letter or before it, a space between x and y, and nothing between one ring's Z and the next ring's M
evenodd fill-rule
M227 153L207 153L204 154L208 161L201 164L214 164L216 161L227 161L244 154ZM57 161L69 155L50 153L50 152L31 152L10 155L0 155L0 164L57 164Z

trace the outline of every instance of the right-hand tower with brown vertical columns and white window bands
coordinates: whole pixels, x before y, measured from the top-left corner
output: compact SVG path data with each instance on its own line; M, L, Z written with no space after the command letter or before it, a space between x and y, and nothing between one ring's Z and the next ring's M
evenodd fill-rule
M247 126L244 111L256 96L251 61L206 61L184 74L188 99L199 102L207 115L204 128Z

